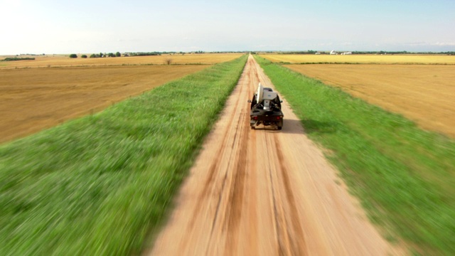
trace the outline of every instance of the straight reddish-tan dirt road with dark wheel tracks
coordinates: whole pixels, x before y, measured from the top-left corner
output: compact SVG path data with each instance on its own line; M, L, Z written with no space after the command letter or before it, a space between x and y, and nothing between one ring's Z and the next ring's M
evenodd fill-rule
M283 103L284 127L250 129L250 56L150 255L395 255Z

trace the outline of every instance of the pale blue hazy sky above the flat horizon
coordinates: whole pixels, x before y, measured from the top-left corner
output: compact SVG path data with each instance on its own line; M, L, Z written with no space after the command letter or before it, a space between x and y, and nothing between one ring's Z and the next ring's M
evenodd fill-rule
M455 51L454 0L0 0L0 55Z

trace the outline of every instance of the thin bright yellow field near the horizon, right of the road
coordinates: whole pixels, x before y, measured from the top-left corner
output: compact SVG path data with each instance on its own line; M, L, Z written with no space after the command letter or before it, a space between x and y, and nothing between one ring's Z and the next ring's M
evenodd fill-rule
M272 62L282 63L379 63L379 64L448 64L455 65L449 55L297 55L261 54Z

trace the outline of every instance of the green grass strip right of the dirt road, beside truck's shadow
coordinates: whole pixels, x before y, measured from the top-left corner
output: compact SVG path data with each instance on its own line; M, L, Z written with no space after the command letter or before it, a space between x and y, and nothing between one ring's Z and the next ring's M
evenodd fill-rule
M455 142L256 57L371 220L412 252L455 255ZM284 113L286 114L286 113ZM286 119L284 120L286 126ZM383 230L384 231L384 230Z

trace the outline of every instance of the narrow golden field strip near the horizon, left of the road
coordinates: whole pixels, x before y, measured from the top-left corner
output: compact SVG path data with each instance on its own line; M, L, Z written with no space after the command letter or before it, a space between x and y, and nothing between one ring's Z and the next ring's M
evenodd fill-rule
M116 57L116 58L69 58L68 55L20 55L18 58L36 58L35 60L15 60L0 62L0 69L9 68L54 68L79 67L102 65L164 65L170 59L171 64L215 64L239 58L240 53L203 53L203 54L175 54L157 56ZM90 56L90 54L86 54ZM0 60L6 57L0 56Z

